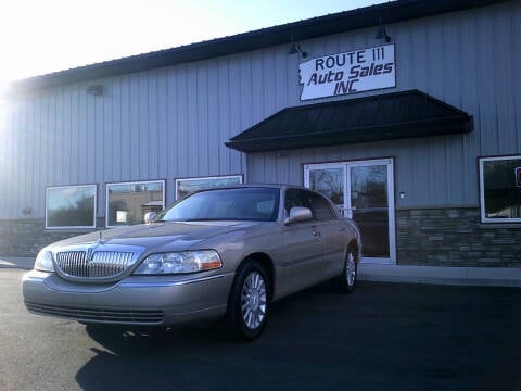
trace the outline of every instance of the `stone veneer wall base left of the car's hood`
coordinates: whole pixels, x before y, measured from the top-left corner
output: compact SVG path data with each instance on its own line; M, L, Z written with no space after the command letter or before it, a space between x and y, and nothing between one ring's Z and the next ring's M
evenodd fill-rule
M98 227L104 227L99 218ZM46 230L43 218L0 220L0 255L36 256L47 244L92 230Z

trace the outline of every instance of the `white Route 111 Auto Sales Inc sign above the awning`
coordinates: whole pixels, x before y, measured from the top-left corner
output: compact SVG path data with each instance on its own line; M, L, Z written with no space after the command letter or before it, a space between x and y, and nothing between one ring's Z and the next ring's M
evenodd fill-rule
M394 45L326 55L298 67L301 100L396 87Z

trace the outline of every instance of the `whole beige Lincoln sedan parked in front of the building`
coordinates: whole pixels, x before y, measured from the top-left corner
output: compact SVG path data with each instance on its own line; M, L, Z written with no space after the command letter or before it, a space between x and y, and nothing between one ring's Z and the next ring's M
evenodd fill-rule
M28 311L86 324L169 326L225 318L258 337L275 300L331 280L356 286L360 234L330 200L292 186L195 192L150 223L40 251Z

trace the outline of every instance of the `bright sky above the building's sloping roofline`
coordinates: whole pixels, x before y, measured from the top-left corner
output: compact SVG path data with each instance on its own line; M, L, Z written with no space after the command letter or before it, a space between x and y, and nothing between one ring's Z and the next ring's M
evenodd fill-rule
M0 92L12 80L382 2L4 0Z

